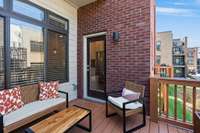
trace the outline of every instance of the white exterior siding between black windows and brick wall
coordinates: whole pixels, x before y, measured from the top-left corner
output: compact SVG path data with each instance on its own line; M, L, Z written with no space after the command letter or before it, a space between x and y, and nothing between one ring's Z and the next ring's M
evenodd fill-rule
M69 82L60 85L60 90L69 93L69 99L77 98L77 9L64 0L31 0L69 20Z

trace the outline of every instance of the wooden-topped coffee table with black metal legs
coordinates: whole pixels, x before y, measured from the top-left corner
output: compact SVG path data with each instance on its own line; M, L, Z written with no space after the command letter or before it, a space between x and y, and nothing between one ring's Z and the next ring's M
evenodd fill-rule
M89 127L79 125L86 117L89 117ZM27 133L64 133L77 126L88 132L92 130L91 110L79 106L69 107L26 130Z

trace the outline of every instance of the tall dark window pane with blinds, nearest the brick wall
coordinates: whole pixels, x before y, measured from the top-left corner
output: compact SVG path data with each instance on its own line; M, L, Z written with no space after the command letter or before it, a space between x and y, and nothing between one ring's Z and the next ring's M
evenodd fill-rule
M47 81L66 81L66 36L54 31L48 31L47 51Z

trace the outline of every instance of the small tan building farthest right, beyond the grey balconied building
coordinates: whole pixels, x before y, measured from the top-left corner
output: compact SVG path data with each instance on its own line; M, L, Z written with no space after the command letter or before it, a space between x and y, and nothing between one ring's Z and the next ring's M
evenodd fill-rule
M196 74L198 63L198 48L186 48L185 52L187 74Z

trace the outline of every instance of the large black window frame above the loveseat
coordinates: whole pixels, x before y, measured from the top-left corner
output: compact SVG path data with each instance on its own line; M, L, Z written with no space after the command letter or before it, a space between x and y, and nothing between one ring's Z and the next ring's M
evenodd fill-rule
M4 6L3 8L0 7L0 16L4 18L4 71L5 71L5 77L4 77L4 88L0 88L1 89L9 89L10 88L10 20L11 18L14 18L14 19L17 19L17 20L20 20L20 21L24 21L24 22L27 22L27 23L30 23L30 24L33 24L33 25L37 25L37 26L41 26L43 28L43 38L44 38L44 61L45 61L45 64L44 64L44 81L46 81L46 66L47 66L47 46L48 46L48 30L51 30L51 31L55 31L55 32L58 32L58 33L61 33L61 34L65 34L66 35L66 79L61 81L60 83L64 83L64 82L69 82L69 20L46 9L46 8L43 8L31 1L27 1L27 0L19 0L19 1L22 1L24 3L27 3L31 6L34 6L36 8L39 8L41 10L44 11L44 19L43 21L39 21L37 19L34 19L32 17L29 17L29 16L26 16L26 15L23 15L23 14L20 14L20 13L17 13L17 12L14 12L12 7L13 7L13 0L4 0ZM59 27L56 27L54 25L50 25L48 23L48 14L51 13L51 14L54 14L56 16L58 16L59 18L63 19L64 21L67 22L67 30L65 29L61 29ZM35 83L33 83L35 84Z

